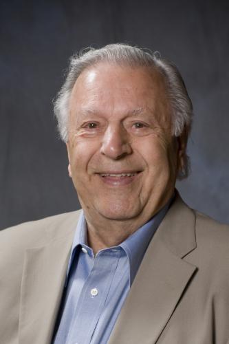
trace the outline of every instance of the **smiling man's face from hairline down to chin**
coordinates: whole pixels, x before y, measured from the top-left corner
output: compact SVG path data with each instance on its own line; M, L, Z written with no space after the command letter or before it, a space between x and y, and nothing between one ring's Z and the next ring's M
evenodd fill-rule
M173 194L177 142L156 71L100 63L80 74L70 100L69 175L86 213L149 219Z

